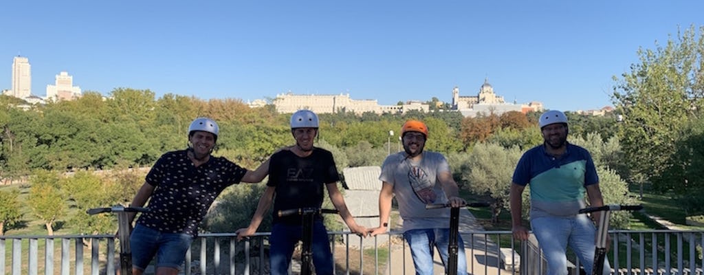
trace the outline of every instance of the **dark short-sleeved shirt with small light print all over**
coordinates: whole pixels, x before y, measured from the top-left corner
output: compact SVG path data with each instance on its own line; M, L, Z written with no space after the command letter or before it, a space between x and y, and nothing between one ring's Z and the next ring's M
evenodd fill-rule
M137 219L162 232L197 235L198 225L210 204L227 186L238 184L247 172L230 160L210 155L208 162L196 167L187 150L165 153L146 175L155 186L149 212Z

